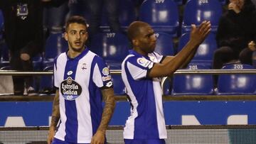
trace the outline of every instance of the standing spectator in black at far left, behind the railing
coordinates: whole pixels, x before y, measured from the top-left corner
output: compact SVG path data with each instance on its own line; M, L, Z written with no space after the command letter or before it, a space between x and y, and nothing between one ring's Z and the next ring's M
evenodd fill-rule
M31 59L43 50L43 4L58 4L59 1L0 1L12 70L33 70ZM14 94L23 94L24 87L28 95L36 94L33 89L33 77L15 76Z

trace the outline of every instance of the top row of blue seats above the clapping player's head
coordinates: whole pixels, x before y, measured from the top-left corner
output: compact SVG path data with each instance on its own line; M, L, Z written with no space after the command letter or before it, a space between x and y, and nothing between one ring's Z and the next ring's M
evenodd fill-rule
M145 21L149 23L156 32L164 32L179 36L179 33L188 33L191 31L191 24L200 24L202 21L212 23L212 31L217 30L218 21L223 13L222 0L188 0L184 4L184 11L181 13L178 4L182 0L146 0L137 11L133 0L122 0L119 2L119 22L124 31L127 30L132 21ZM74 9L74 10L73 10ZM71 8L70 11L79 12L78 9ZM106 12L102 13L101 30L110 32L110 26L107 23ZM90 13L84 13L85 18L90 20Z

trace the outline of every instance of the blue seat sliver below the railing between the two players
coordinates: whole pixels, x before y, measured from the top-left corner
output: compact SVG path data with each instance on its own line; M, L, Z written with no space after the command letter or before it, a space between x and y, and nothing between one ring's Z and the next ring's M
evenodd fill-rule
M114 84L114 95L125 95L124 82L122 81L121 74L111 74L112 82Z

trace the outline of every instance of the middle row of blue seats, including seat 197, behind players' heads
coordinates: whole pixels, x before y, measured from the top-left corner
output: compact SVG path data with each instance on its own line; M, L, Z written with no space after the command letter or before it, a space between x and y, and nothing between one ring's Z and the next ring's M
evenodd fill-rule
M168 33L156 33L156 52L161 55L175 55L189 40L189 33L181 36L178 48L174 48L171 35ZM120 70L120 63L129 51L129 41L122 33L99 33L92 37L90 50L103 57L110 64L111 69ZM215 34L210 33L206 40L199 45L198 51L191 62L203 63L209 68L213 61L213 52L217 45ZM51 33L46 40L43 57L40 55L33 58L36 70L43 70L53 65L54 58L61 52L68 50L68 43L63 38L63 33ZM6 67L9 63L9 53L6 45L1 45L0 67Z

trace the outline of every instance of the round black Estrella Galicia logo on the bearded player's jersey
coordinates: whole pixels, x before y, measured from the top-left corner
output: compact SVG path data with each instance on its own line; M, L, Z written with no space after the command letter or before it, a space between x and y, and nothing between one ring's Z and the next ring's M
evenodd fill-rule
M72 77L68 77L68 79L60 83L60 92L64 99L72 101L80 96L82 87L78 82L75 82Z

